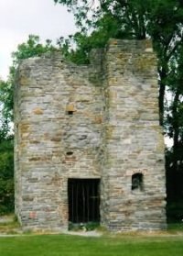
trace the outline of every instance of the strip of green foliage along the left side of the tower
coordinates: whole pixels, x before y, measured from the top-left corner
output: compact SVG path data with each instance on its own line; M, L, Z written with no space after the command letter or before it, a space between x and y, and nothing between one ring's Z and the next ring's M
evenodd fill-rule
M8 82L0 81L0 215L14 209L14 150L13 138L10 133L12 120L11 94ZM6 103L6 105L4 105ZM6 106L6 107L4 107ZM8 110L10 112L8 112Z

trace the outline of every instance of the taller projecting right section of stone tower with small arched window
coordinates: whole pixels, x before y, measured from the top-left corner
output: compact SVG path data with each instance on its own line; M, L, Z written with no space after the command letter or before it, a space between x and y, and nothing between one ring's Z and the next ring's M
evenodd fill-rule
M105 225L114 230L160 228L166 189L156 56L149 41L121 40L112 40L105 56L104 172L110 187ZM132 189L135 173L143 177L142 189Z

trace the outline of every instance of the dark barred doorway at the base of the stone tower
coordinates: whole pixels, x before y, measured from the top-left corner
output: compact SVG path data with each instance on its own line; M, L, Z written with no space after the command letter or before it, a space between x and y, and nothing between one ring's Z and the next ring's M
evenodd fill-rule
M69 221L100 221L100 179L69 179Z

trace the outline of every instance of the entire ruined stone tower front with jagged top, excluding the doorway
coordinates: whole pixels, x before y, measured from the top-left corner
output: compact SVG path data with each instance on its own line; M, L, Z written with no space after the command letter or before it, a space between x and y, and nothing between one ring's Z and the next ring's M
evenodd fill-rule
M64 61L59 52L19 66L16 215L23 227L66 229L68 180L100 179L104 227L166 228L164 141L151 43L111 39L91 55L86 66Z

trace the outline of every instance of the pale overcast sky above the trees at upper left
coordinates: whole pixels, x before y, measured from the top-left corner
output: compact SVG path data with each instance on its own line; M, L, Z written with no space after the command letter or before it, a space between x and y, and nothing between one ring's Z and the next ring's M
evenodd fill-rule
M28 35L56 41L74 30L72 15L53 0L0 0L0 77L6 78L11 52Z

